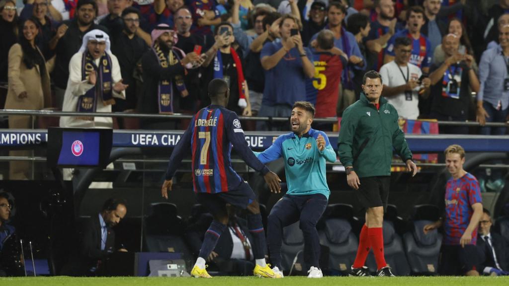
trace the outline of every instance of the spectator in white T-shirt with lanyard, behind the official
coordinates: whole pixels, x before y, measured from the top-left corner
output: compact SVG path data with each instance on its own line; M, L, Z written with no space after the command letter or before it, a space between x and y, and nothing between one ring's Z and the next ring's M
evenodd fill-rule
M411 52L410 38L396 39L394 60L382 66L380 75L384 84L382 96L398 110L401 117L415 120L419 117L419 97L429 95L431 81L427 77L421 78L419 67L409 63Z

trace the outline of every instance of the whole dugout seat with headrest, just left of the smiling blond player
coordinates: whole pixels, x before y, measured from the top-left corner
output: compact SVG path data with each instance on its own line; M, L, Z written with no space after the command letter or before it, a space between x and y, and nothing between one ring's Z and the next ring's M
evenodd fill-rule
M440 211L434 205L417 205L413 208L409 231L403 236L405 252L412 275L436 275L442 246L442 235L433 230L422 231L426 224L436 221Z

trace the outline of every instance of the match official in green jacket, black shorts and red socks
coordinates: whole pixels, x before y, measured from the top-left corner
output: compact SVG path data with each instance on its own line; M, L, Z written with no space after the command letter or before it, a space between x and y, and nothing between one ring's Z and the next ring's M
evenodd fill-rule
M405 134L398 125L398 112L381 97L382 77L376 71L366 72L363 93L343 114L337 154L345 166L348 185L366 209L366 223L359 235L359 248L349 276L370 276L364 266L367 253L373 249L377 276L394 276L383 251L382 223L387 207L392 151L400 155L413 176L417 167L412 161Z

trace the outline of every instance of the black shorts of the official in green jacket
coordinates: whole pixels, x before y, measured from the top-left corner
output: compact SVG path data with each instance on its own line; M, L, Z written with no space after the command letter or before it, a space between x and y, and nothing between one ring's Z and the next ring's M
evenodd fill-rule
M355 191L360 204L365 209L383 207L387 209L390 176L359 178L360 186Z

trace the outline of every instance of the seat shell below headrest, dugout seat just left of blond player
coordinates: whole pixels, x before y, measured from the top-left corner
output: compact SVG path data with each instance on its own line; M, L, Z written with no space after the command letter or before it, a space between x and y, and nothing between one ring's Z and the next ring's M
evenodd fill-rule
M410 271L413 275L434 275L438 270L438 258L442 235L437 230L427 235L422 231L431 220L416 220L411 232L403 236Z

